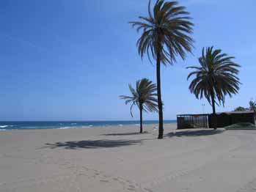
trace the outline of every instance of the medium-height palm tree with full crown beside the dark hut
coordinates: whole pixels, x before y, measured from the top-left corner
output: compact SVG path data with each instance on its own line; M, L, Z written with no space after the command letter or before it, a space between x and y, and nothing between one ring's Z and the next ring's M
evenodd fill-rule
M239 78L237 77L240 67L232 61L233 56L222 53L221 49L213 50L211 48L202 48L202 56L199 58L200 67L187 67L194 71L189 73L189 79L192 75L195 78L191 81L189 89L191 93L200 99L203 96L208 100L213 108L213 122L216 128L216 108L215 104L223 104L224 97L238 93Z

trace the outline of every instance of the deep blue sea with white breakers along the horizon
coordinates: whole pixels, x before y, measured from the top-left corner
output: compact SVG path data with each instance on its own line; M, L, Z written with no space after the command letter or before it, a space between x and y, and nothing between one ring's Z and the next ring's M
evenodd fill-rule
M176 120L165 120L164 123L175 123ZM158 124L158 121L144 121L145 125ZM59 121L59 122L0 122L0 130L32 130L32 129L72 129L108 126L137 125L139 121Z

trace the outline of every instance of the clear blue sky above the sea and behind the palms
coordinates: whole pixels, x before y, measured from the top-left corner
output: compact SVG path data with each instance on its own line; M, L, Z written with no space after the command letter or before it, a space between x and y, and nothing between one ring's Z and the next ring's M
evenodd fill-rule
M241 64L241 91L225 108L256 99L256 1L183 0L194 26L194 56L162 67L164 119L211 112L189 92L189 65L214 45ZM136 50L128 21L147 15L145 0L1 0L0 120L139 119L119 95L139 78L156 82L156 67ZM204 109L202 104L205 103ZM157 119L145 114L145 119Z

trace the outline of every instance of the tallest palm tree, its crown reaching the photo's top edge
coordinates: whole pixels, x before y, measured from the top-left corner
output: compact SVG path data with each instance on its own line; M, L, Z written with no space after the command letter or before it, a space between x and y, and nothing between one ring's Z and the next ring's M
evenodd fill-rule
M189 37L192 33L193 23L190 22L189 12L186 7L179 7L177 1L157 0L150 10L148 4L148 16L139 19L141 21L130 22L136 27L137 32L142 30L142 36L137 41L139 55L147 54L150 62L156 60L156 78L158 94L159 134L158 139L163 138L163 103L161 100L161 63L173 64L176 57L185 59L186 52L191 52L193 40Z

